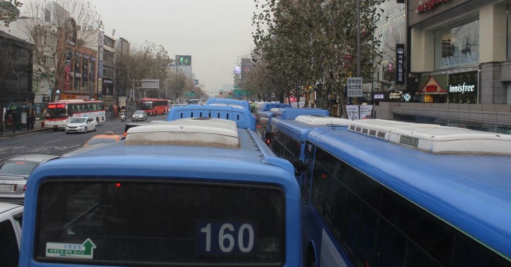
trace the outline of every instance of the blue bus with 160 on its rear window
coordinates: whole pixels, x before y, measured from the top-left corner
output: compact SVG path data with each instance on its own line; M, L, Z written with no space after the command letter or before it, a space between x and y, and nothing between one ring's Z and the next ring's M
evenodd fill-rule
M293 166L232 121L134 127L49 163L28 181L20 266L302 265Z

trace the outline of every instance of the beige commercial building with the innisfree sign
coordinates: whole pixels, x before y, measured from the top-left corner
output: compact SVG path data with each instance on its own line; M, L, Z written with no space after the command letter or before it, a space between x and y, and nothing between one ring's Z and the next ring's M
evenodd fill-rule
M376 117L511 133L510 4L407 1L407 97Z

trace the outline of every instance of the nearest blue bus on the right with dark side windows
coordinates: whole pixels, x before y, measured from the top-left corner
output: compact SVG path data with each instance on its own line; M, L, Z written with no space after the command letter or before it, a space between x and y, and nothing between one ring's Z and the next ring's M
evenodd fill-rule
M511 266L511 136L358 120L305 149L305 266Z

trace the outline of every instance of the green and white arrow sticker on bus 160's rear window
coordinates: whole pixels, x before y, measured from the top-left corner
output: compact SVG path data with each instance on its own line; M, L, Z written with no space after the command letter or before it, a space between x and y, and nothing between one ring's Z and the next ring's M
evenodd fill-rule
M46 243L46 256L57 258L79 258L79 259L92 259L94 258L94 249L96 245L90 238L85 239L82 244L68 244L68 243Z

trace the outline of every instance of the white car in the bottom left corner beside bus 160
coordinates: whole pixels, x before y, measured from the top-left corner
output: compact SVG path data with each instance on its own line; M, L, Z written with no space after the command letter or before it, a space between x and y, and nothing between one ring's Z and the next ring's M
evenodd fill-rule
M0 203L0 265L17 267L23 206Z

